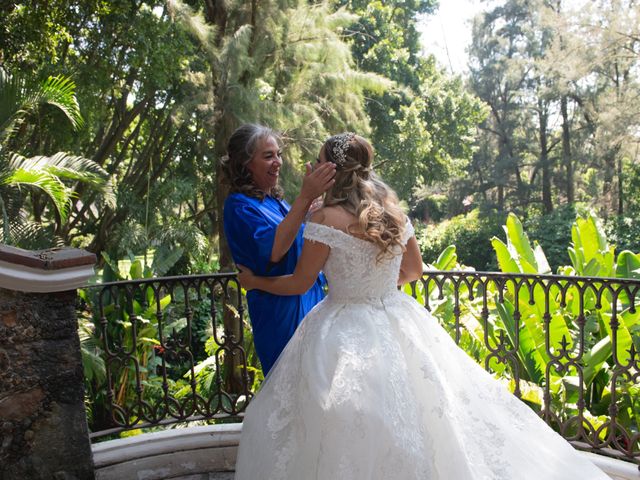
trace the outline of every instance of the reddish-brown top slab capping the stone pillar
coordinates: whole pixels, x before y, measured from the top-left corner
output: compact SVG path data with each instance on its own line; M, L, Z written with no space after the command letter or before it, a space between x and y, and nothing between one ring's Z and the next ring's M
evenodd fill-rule
M70 247L23 250L9 245L0 245L0 261L42 270L61 270L95 265L96 256L86 250Z

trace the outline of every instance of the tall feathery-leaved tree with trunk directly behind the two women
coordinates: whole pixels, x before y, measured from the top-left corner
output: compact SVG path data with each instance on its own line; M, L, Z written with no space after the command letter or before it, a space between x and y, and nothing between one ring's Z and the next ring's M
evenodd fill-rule
M329 132L366 133L363 91L381 91L389 82L354 69L341 37L353 18L344 10L332 12L326 2L206 2L200 11L172 0L170 7L207 55L218 251L221 269L233 270L222 228L228 190L219 162L233 130L260 122L286 132L294 145L289 167L299 165L315 157ZM233 312L225 312L224 324L240 338ZM231 372L228 388L237 391L241 372Z

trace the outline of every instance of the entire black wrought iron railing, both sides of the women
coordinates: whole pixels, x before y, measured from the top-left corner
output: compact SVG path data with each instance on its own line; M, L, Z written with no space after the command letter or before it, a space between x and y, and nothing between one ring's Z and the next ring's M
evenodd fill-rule
M426 272L407 288L577 448L636 463L639 290L637 280L473 271ZM259 372L233 274L86 292L107 379L108 418L92 436L242 415Z

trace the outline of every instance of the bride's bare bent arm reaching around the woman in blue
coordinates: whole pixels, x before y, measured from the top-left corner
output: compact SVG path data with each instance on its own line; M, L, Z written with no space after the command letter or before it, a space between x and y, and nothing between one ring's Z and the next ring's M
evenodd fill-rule
M305 240L295 271L280 277L257 277L248 268L238 265L240 285L246 290L264 290L274 295L302 295L318 278L330 250L324 243Z

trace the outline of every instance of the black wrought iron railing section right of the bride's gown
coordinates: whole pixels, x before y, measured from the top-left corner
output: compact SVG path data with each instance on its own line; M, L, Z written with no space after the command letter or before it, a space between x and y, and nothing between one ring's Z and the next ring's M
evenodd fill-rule
M427 272L412 293L575 447L638 463L640 281Z

